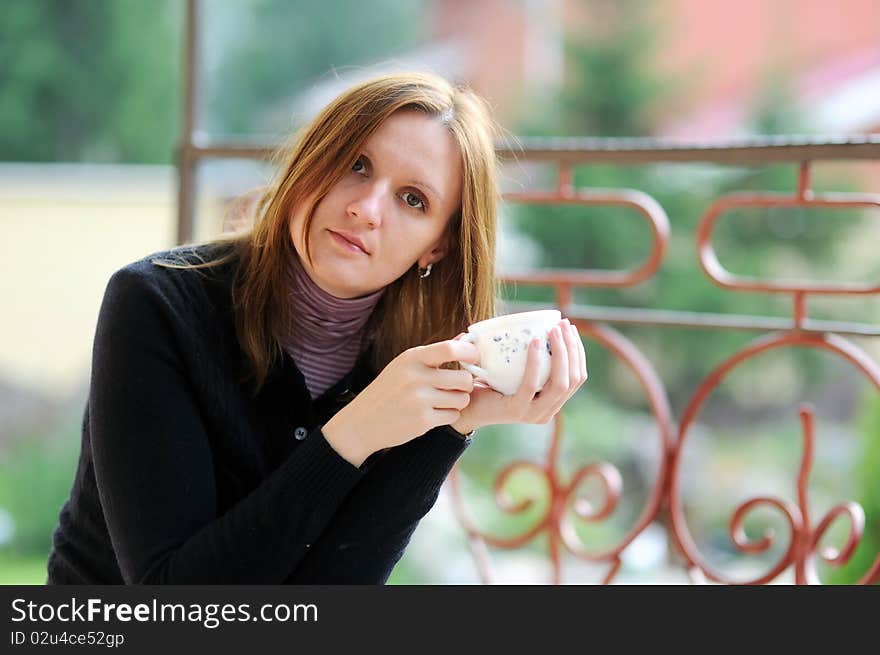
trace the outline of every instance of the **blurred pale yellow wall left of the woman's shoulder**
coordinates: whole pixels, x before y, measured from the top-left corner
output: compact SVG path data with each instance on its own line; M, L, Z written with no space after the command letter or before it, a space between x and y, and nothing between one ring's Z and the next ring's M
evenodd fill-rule
M173 245L176 201L172 167L0 164L0 378L59 397L87 382L107 280Z

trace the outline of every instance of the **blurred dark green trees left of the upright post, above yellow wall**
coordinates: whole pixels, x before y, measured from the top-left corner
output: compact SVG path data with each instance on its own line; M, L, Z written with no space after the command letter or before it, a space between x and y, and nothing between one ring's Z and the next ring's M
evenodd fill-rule
M0 21L0 160L168 162L173 0L11 0Z

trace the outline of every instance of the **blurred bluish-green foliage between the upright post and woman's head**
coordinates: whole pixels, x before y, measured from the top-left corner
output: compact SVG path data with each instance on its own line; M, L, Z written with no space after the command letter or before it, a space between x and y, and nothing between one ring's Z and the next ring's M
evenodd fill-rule
M399 55L426 38L425 5L424 0L209 0L204 128L286 132L285 103L292 105L322 75Z

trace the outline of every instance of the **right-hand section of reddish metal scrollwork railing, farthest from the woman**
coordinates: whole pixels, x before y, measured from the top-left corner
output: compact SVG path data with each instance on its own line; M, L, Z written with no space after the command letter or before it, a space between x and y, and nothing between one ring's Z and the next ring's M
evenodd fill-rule
M681 453L685 445L688 430L693 424L700 408L708 395L718 387L721 381L737 366L761 353L773 349L798 347L819 349L841 357L868 378L880 391L880 366L855 344L835 334L808 330L806 319L806 296L808 294L852 295L880 293L880 284L825 284L805 281L761 281L733 275L721 266L711 245L712 229L723 212L736 207L824 207L828 209L872 207L880 208L880 197L869 194L825 194L816 196L809 189L809 162L801 164L798 189L794 195L784 194L732 194L719 199L703 216L698 228L697 253L700 265L706 275L718 286L736 291L757 291L763 293L786 293L793 297L794 328L779 334L770 334L758 338L744 349L735 353L720 364L698 387L684 412L679 427L679 436L672 459L670 479L670 514L672 530L681 552L691 567L692 577L703 577L725 584L734 581L720 572L713 570L700 556L698 549L688 531L682 499L679 490L679 467ZM818 525L813 528L807 502L807 485L813 461L813 444L815 439L813 410L803 406L800 418L804 435L804 450L801 469L797 480L798 504L776 498L755 498L740 505L731 520L730 538L735 548L745 554L758 554L769 549L774 541L773 533L757 541L750 542L742 523L746 514L754 507L768 505L777 508L787 519L790 528L789 545L780 560L770 570L746 584L764 584L775 580L783 571L793 567L797 584L818 583L815 570L815 558L821 538L829 526L840 517L847 517L850 532L842 549L819 549L818 555L832 566L847 563L858 543L861 541L864 527L864 511L857 503L847 502L832 508ZM870 569L861 578L861 583L871 583L880 579L880 556L876 558Z

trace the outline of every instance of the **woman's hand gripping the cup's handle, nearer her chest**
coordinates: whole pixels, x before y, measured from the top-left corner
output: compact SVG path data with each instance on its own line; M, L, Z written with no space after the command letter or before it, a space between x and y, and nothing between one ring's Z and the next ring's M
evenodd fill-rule
M324 425L324 438L342 457L360 466L377 450L457 422L470 402L474 378L467 371L440 366L477 359L477 347L465 341L405 350Z

